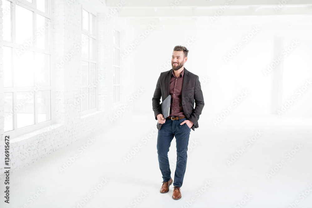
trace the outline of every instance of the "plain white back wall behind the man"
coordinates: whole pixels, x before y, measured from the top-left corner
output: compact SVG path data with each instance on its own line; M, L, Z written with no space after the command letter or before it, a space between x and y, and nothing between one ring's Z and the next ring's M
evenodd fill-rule
M187 47L189 54L185 67L199 75L202 81L205 100L203 114L220 114L228 106L233 107L231 102L242 90L247 90L249 94L233 108L231 114L277 114L277 108L292 96L297 96L296 90L304 86L306 80L312 79L309 58L312 53L311 20L310 16L300 15L244 16L219 17L213 24L209 18L202 18L195 27L176 27L175 21L172 22L172 29L170 22L167 22L168 25L157 25L131 53L131 59L135 60L137 85L147 89L140 97L142 105L135 110L139 112L143 108L153 114L151 98L159 74L171 69L171 65L166 66L165 62L170 60L173 47L185 45L189 40L191 44ZM253 31L253 27L259 31ZM143 26L136 28L137 33L144 31ZM250 35L250 40L244 38L252 31L255 34ZM276 39L282 39L283 47L276 48ZM283 56L284 63L264 73L267 65L282 54L284 47L291 46L293 40L300 43L287 56ZM240 50L226 62L224 57L239 43L242 44ZM281 68L282 81L278 84L280 90L276 94L276 90L273 90L276 80L273 77L278 68ZM312 103L311 95L312 87L298 97L283 115L312 116L312 109L308 106ZM274 104L275 96L280 97L279 104Z

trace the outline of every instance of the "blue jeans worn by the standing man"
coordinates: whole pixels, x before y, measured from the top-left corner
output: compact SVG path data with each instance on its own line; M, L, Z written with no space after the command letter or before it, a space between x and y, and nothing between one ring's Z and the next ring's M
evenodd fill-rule
M169 181L171 178L171 171L168 159L168 152L173 137L176 138L177 146L177 166L174 173L173 186L182 186L183 178L186 170L186 162L188 159L188 139L190 137L191 129L186 123L180 125L186 119L169 120L162 125L158 130L157 137L157 153L158 162L163 181Z

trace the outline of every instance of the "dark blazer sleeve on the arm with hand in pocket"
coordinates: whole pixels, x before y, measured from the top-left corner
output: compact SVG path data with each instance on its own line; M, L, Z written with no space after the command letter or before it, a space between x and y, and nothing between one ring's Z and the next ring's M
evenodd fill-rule
M202 114L202 109L204 107L204 97L202 95L202 89L200 87L198 76L196 76L195 78L194 100L195 100L195 108L188 120L192 121L195 126L199 119L199 115Z

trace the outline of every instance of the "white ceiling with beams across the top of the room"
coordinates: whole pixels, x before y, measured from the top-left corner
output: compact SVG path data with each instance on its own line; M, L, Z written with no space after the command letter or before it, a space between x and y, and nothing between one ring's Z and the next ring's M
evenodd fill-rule
M179 18L183 25L193 25L202 18L216 17L217 12L222 18L312 15L312 0L106 0L106 6L115 7L118 17L134 26L151 22L176 25Z

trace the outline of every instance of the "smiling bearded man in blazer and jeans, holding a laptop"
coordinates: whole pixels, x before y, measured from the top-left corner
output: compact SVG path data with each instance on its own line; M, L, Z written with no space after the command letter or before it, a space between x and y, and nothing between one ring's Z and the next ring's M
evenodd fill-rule
M157 153L159 168L163 175L160 193L167 193L173 180L171 178L168 151L173 137L176 138L177 165L174 173L174 200L181 198L180 187L186 170L188 139L191 132L198 128L199 115L204 107L204 99L197 75L184 68L188 60L188 50L175 46L172 53L172 69L162 72L158 78L153 96L153 111L158 124ZM160 107L162 101L171 95L170 114L163 118ZM195 100L195 109L194 109Z

